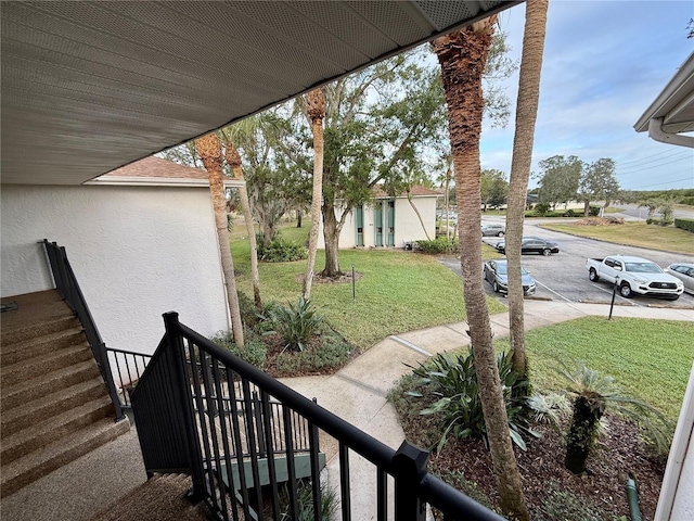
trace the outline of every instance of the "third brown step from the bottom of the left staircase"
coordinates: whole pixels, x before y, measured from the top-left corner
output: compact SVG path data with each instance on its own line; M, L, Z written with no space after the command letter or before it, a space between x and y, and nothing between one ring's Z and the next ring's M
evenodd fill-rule
M27 429L67 409L77 407L102 396L107 396L108 390L101 378L92 378L38 399L23 403L13 409L3 411L0 418L0 432L7 440L15 432Z

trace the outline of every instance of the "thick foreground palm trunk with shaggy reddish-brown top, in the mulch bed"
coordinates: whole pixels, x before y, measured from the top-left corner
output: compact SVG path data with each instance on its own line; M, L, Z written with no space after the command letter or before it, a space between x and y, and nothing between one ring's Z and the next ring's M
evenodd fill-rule
M475 356L475 371L493 462L501 508L511 518L528 520L520 474L513 454L509 422L494 356L489 309L481 272L481 193L479 135L484 99L481 78L496 16L476 22L433 42L441 66L448 126L455 173L455 199L465 309Z

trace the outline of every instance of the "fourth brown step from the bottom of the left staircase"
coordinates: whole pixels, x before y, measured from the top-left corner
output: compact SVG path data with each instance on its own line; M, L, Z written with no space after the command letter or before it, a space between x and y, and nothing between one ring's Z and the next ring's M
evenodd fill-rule
M101 378L101 373L99 366L91 358L38 378L24 380L15 385L7 385L3 381L0 390L0 412L4 415L5 411L23 404L94 378Z

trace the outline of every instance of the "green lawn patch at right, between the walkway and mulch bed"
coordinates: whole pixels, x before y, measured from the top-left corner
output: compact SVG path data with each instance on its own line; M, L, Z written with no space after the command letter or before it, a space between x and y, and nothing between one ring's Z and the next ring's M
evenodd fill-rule
M694 322L584 317L526 332L536 389L560 390L558 360L584 360L677 421L694 360ZM506 350L501 340L498 348Z

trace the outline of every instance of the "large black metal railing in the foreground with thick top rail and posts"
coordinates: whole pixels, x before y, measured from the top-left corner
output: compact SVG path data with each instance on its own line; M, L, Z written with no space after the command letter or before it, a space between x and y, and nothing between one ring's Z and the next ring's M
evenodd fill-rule
M426 504L449 521L503 519L429 474L428 453L408 442L393 450L181 325L178 314L164 318L166 334L131 396L145 469L190 473L193 494L219 519L298 519L299 496L308 492L321 520L325 486L344 520L423 521ZM295 418L307 428L307 481L298 479ZM330 472L319 440L336 447ZM371 511L355 513L374 492Z

